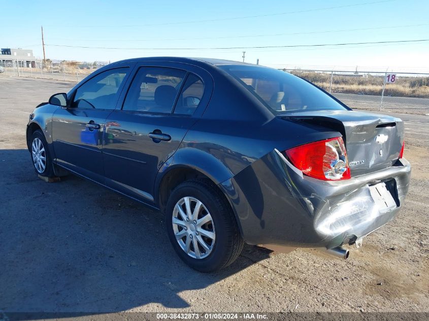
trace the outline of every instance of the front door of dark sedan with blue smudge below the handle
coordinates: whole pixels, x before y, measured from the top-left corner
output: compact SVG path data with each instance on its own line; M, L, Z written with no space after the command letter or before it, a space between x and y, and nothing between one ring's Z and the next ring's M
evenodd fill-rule
M104 184L102 139L107 116L115 109L130 67L98 73L72 93L68 108L52 119L56 162Z

